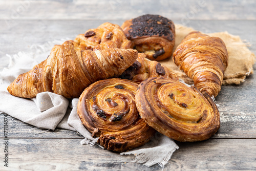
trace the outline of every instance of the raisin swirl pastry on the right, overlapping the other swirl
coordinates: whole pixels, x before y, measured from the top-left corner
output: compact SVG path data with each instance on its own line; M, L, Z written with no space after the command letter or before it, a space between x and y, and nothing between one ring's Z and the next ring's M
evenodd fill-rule
M148 125L177 141L206 140L220 127L220 114L210 96L175 79L142 81L135 100Z

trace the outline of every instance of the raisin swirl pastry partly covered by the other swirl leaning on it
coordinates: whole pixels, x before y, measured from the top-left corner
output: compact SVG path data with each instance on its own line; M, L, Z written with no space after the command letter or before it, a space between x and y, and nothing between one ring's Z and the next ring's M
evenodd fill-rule
M137 111L137 88L138 83L130 80L105 79L91 84L79 98L77 113L81 122L110 151L138 147L155 134Z

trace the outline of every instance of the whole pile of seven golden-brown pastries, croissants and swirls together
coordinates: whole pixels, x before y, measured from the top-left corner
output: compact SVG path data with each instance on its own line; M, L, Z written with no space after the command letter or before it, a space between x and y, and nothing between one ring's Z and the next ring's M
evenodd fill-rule
M46 91L79 97L82 124L111 151L141 146L156 131L178 141L206 140L220 127L211 97L221 90L227 50L220 38L200 32L189 33L175 51L174 43L174 23L159 15L126 20L121 27L104 23L55 45L8 91L23 98ZM158 62L172 55L195 86Z

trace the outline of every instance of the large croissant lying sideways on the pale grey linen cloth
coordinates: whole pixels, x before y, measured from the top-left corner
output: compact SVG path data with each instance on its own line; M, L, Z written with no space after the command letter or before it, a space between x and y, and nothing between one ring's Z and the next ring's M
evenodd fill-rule
M91 83L121 75L137 56L137 51L132 49L81 50L75 42L65 41L54 46L45 61L19 75L8 91L23 98L33 98L46 91L78 98Z

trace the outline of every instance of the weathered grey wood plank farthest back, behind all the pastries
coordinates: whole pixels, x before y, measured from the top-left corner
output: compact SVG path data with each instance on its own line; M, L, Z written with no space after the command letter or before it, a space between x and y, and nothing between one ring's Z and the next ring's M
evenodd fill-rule
M247 1L1 1L0 19L129 19L160 14L175 20L256 19L256 4Z

